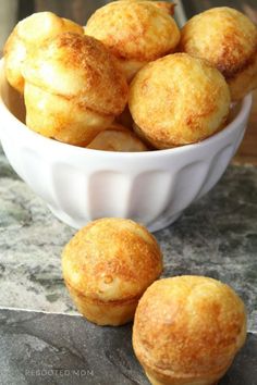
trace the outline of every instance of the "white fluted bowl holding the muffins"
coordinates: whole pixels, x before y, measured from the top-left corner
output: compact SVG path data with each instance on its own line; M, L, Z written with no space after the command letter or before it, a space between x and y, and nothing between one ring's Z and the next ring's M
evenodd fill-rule
M244 136L252 97L236 107L233 121L212 137L148 152L106 152L48 139L14 116L22 114L21 105L1 63L3 150L58 219L79 228L97 218L131 218L155 232L174 222L219 181Z

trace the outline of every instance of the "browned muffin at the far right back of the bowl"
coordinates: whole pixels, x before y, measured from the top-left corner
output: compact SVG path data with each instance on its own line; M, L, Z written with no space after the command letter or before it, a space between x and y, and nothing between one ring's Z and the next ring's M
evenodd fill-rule
M257 87L257 27L231 8L213 8L183 27L180 49L208 60L224 75L232 100Z

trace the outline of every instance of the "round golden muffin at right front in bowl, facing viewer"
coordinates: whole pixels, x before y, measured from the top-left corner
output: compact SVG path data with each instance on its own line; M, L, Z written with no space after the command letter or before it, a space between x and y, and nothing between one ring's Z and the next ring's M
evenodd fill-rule
M137 134L164 149L203 140L220 129L229 114L230 90L217 69L174 53L137 73L128 107Z

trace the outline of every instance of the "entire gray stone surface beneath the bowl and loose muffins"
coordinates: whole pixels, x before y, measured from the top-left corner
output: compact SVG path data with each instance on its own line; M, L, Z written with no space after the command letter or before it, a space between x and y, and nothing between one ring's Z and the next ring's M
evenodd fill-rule
M155 234L163 276L208 275L245 301L248 340L222 385L257 384L256 191L257 167L230 166L212 191ZM60 254L74 233L0 152L0 384L148 383L132 352L131 326L100 328L73 307ZM66 377L60 370L68 370Z

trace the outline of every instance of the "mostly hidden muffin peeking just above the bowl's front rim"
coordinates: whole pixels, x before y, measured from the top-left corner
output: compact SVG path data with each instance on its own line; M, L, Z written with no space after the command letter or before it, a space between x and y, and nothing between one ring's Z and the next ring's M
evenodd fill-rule
M147 147L134 133L119 124L99 133L87 148L120 152L147 151Z

